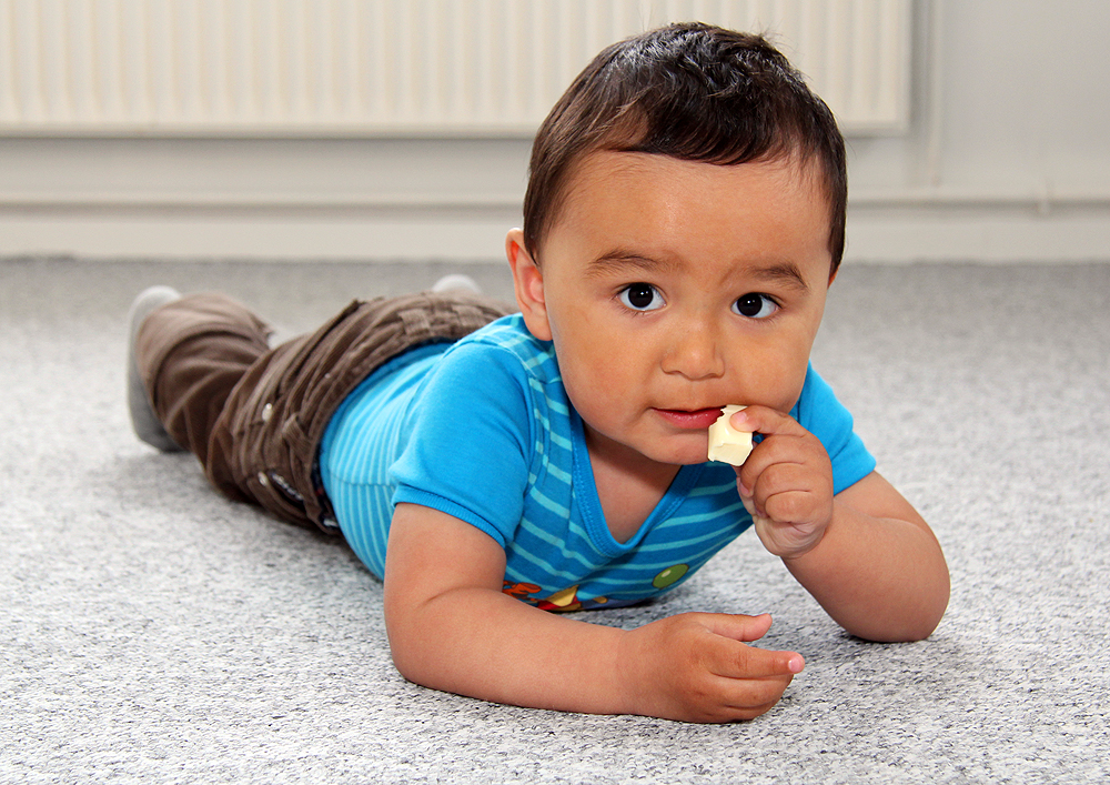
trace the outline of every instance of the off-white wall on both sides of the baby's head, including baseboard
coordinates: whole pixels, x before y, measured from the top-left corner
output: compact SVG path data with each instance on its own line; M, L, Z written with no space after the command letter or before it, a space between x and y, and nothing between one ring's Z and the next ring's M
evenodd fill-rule
M919 0L849 260L1110 260L1110 2ZM493 260L527 140L0 140L0 255Z

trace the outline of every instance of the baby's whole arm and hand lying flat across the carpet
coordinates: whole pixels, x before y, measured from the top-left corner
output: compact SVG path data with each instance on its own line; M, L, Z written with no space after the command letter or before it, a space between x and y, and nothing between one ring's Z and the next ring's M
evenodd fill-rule
M502 593L505 553L445 513L398 504L385 623L412 682L497 703L695 722L748 719L781 697L801 656L754 648L769 616L682 614L625 631Z

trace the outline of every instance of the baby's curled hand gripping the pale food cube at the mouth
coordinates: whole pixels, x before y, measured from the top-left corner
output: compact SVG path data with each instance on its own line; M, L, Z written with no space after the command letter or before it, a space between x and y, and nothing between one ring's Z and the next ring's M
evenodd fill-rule
M833 464L825 445L767 406L748 406L731 424L764 437L736 469L740 501L764 547L787 560L808 553L833 521Z

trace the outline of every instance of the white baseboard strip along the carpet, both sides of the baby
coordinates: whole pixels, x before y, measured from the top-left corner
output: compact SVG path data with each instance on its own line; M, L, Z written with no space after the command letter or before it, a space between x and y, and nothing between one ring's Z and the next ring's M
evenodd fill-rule
M406 211L2 211L0 256L488 262L507 205ZM846 263L1110 262L1110 210L852 209Z

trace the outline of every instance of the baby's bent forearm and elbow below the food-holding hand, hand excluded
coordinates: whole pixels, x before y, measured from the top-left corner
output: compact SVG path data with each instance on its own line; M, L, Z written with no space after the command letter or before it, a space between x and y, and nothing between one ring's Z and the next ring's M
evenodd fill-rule
M877 517L839 500L813 551L784 560L828 614L869 641L928 637L948 606L949 578L940 545L922 524Z

